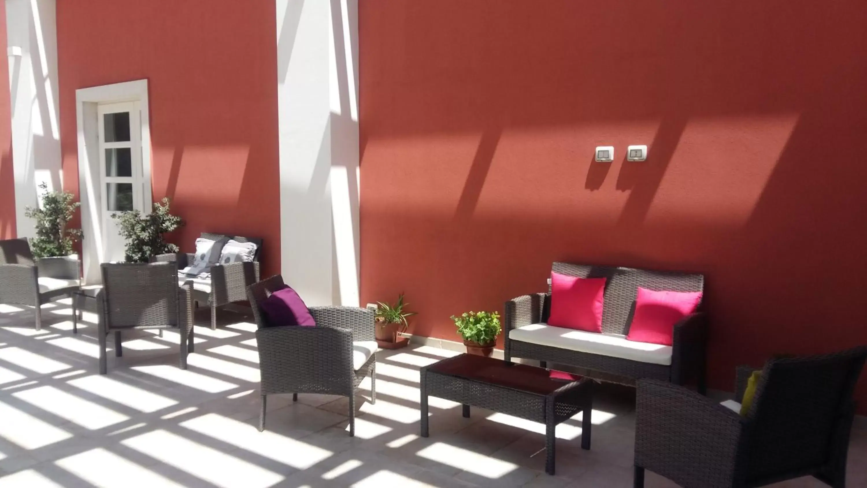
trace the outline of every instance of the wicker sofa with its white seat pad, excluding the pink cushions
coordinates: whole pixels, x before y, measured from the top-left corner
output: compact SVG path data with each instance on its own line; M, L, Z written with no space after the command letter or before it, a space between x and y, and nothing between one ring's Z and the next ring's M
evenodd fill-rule
M548 326L551 292L518 296L505 303L505 360L524 358L570 365L603 380L653 378L682 385L694 381L705 393L707 319L700 308L675 324L672 346L643 346L623 339L635 309L639 286L650 290L701 291L704 277L669 271L588 264L554 263L551 270L571 277L605 277L603 335L614 346L598 348L596 335ZM587 340L584 340L587 339ZM623 349L624 353L620 354ZM602 351L605 352L602 352Z

